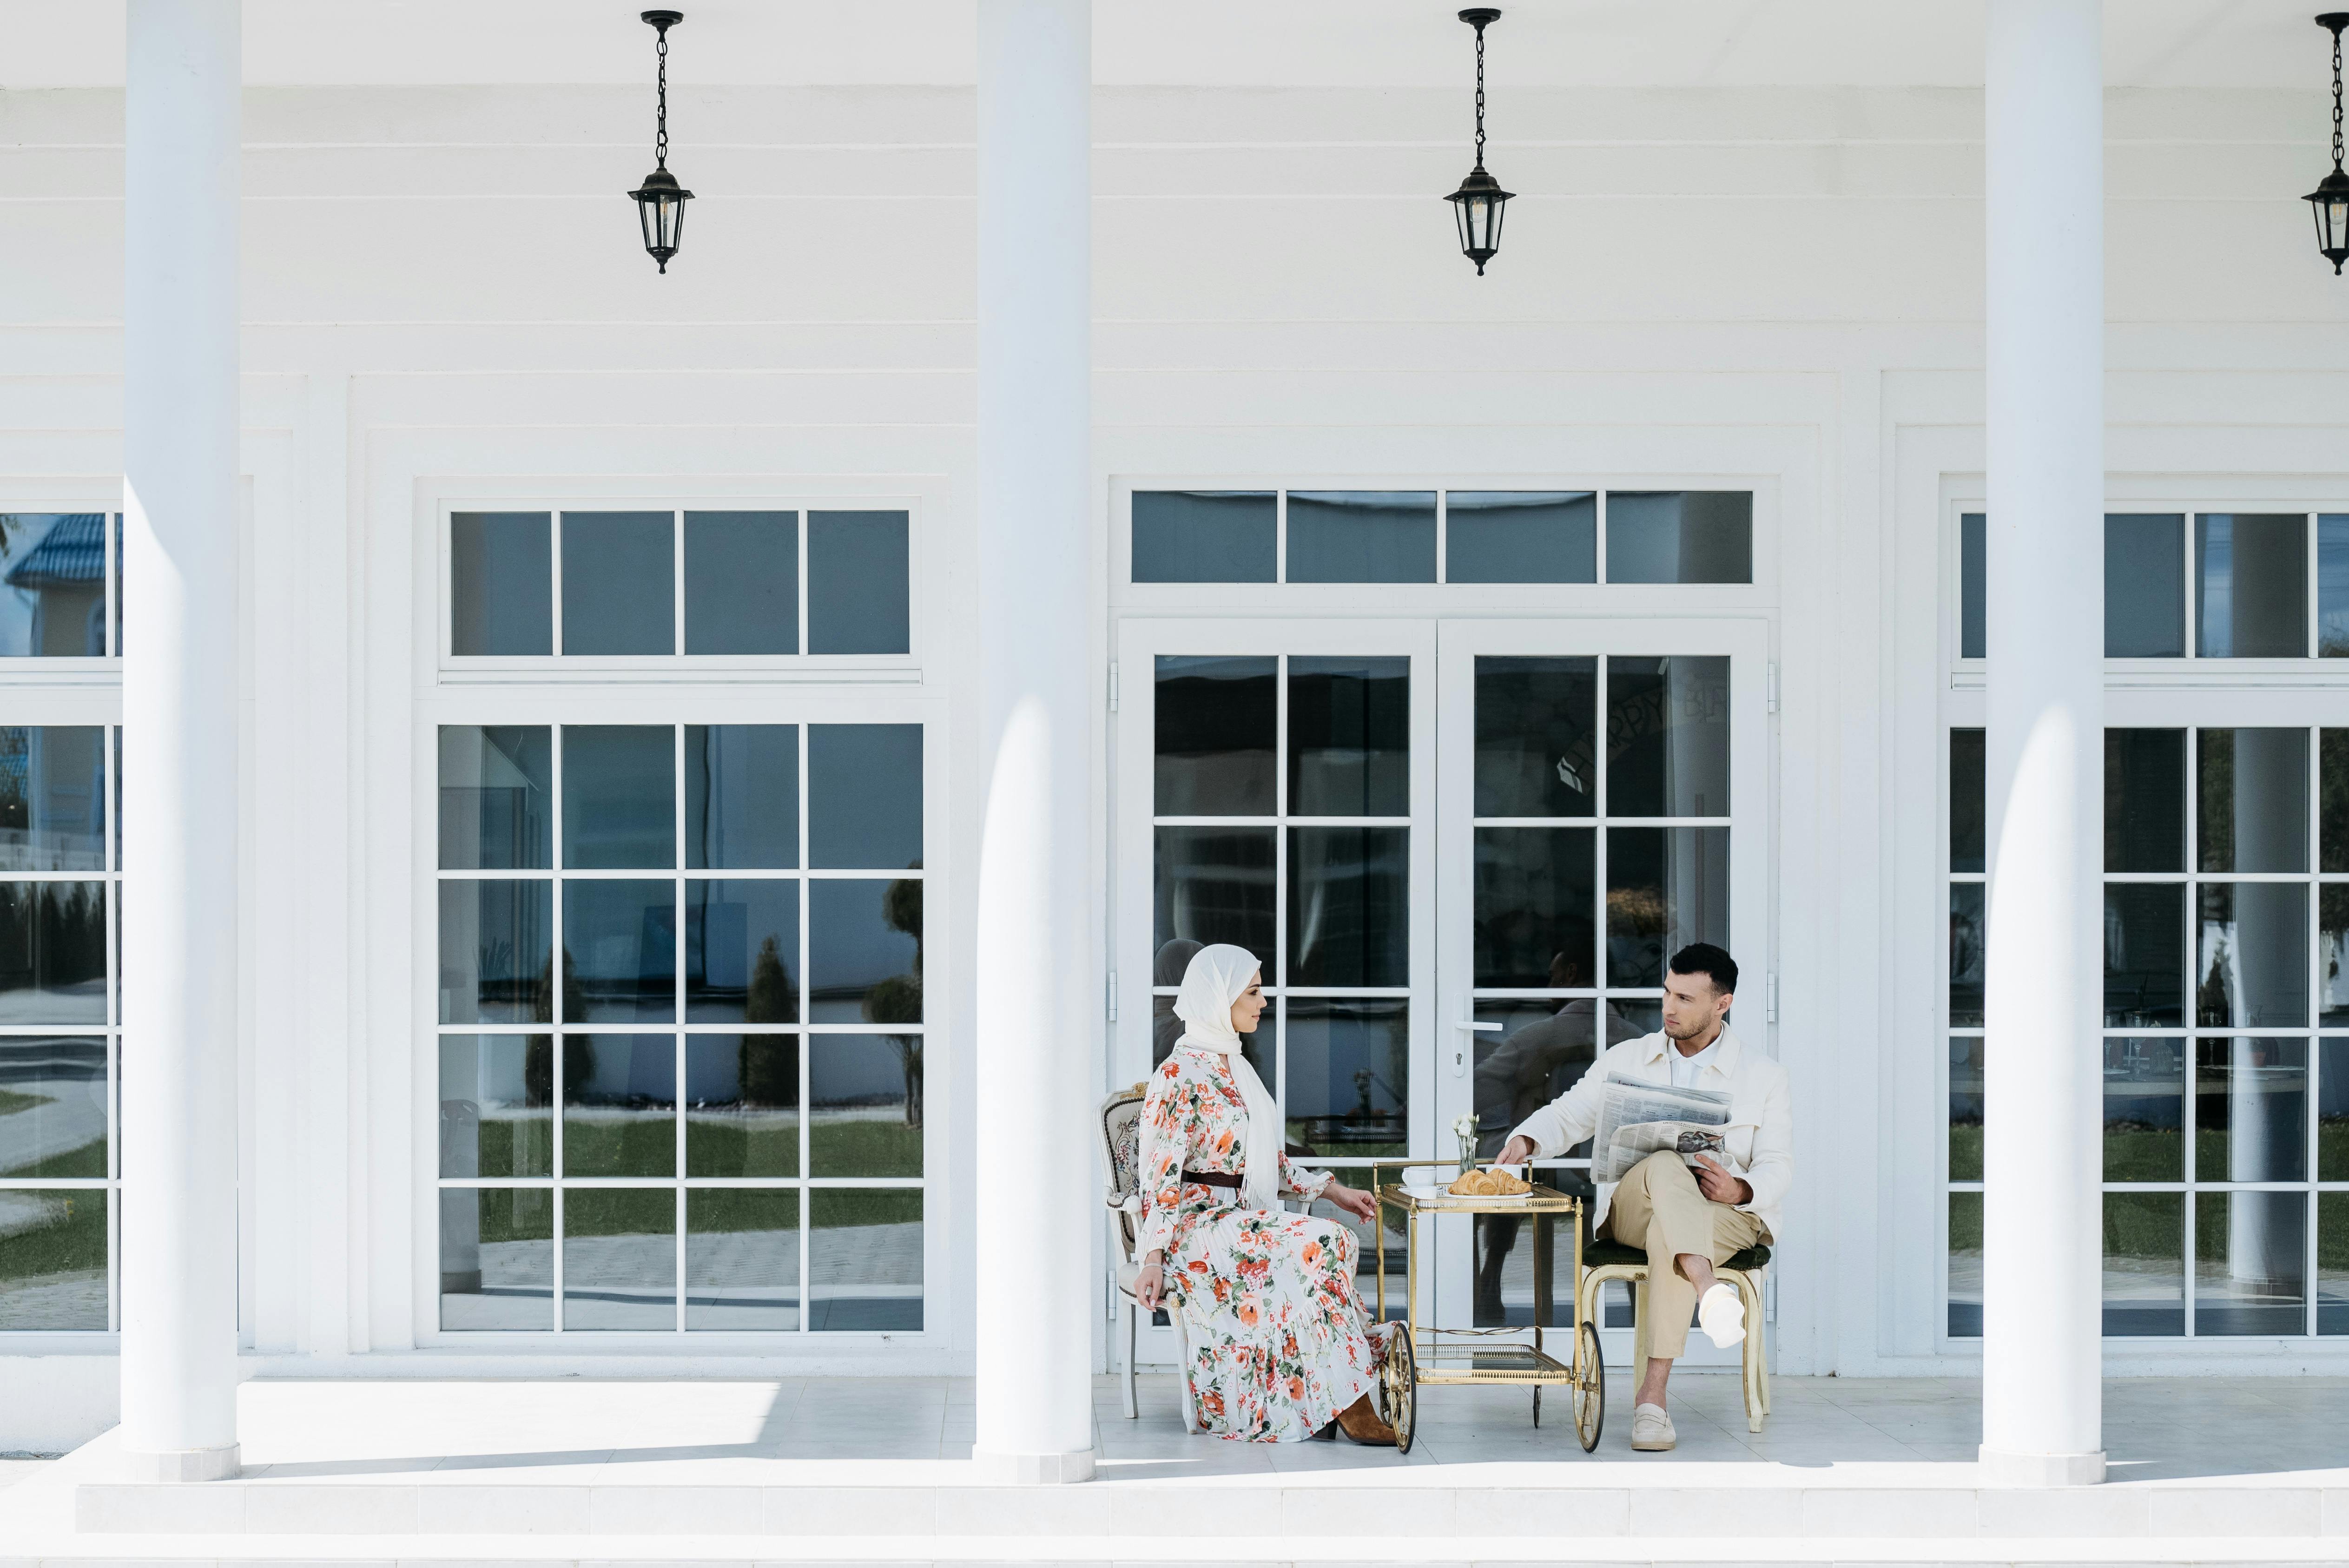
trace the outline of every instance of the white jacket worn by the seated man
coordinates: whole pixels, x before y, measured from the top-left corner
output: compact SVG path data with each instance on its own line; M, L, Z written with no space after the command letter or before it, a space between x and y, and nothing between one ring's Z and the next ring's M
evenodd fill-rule
M1609 1075L1623 1075L1644 1084L1670 1084L1672 1063L1665 1052L1675 1049L1670 1035L1654 1033L1607 1047L1607 1054L1590 1063L1590 1070L1555 1101L1525 1117L1517 1134L1534 1141L1534 1155L1557 1160L1569 1148L1593 1136L1600 1127L1600 1089ZM1755 1195L1738 1209L1762 1221L1771 1237L1778 1237L1778 1214L1785 1190L1795 1185L1795 1099L1785 1087L1785 1068L1757 1049L1748 1049L1729 1028L1722 1030L1712 1061L1696 1070L1698 1089L1729 1091L1729 1127L1722 1129L1727 1164L1743 1176ZM1600 1188L1600 1207L1590 1218L1590 1235L1607 1223L1607 1204L1614 1199L1614 1183Z

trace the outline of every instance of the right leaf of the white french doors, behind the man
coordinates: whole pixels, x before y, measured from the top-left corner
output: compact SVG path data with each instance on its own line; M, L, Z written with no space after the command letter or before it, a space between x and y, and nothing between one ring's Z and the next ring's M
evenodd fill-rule
M1738 960L1731 1028L1769 1049L1764 660L1757 620L1442 622L1435 1122L1473 1115L1482 1157L1661 1026L1663 965L1691 941ZM1590 1195L1588 1155L1548 1181ZM1522 1221L1456 1230L1445 1324L1529 1326L1536 1284L1548 1322L1571 1322L1564 1237L1536 1282ZM1609 1357L1630 1350L1616 1317Z

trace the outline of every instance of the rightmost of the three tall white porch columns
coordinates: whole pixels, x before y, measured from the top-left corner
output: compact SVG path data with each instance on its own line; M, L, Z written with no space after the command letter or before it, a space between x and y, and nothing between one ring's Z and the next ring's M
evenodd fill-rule
M2100 0L1990 0L1983 1465L2105 1479Z

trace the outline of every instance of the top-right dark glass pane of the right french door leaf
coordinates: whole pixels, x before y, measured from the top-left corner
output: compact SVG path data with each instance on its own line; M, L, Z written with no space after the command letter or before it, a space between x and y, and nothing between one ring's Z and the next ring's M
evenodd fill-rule
M1729 815L1729 660L1607 660L1607 815Z

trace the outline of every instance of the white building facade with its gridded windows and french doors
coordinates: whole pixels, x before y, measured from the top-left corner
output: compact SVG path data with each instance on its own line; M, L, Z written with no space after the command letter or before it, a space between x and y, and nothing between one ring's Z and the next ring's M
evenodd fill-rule
M1581 1061L1522 1030L1644 1033L1670 948L1731 948L1799 1115L1781 1373L1978 1368L1985 1230L2091 1357L2018 1453L2098 1448L2098 1331L2107 1371L2349 1366L2307 14L1534 0L1489 35L1520 195L1478 277L1445 7L1104 0L1088 162L1085 94L1036 108L1088 7L994 2L688 7L665 275L627 7L249 0L242 200L162 218L122 68L162 23L12 28L0 1448L136 1404L164 1082L171 1160L233 1174L207 1376L1106 1371L1088 1113L1179 939L1266 958L1259 1068L1339 1167L1506 1131ZM2046 68L1985 122L1999 28ZM2001 134L2039 155L1985 202ZM143 221L237 246L233 359L141 357ZM124 486L190 411L155 364L240 406L223 570L160 622L117 523L174 505ZM1997 472L1999 430L2065 439ZM2046 714L2060 789L1997 739ZM141 789L141 723L221 789ZM1985 1014L2025 829L2062 967L1992 948ZM124 920L141 845L176 892ZM228 1122L139 1084L204 1049L195 1002L193 1045L127 1023L141 932L233 934ZM1442 1232L1438 1310L1529 1322L1513 1251Z

